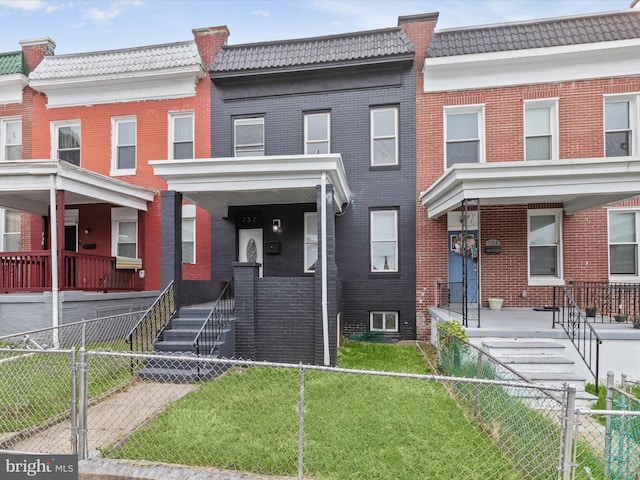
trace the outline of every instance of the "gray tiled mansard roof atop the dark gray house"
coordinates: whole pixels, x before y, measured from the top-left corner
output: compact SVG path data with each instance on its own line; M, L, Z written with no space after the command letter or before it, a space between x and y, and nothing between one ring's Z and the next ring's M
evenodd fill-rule
M279 42L225 45L211 64L211 76L231 72L286 71L413 56L402 28L371 30Z

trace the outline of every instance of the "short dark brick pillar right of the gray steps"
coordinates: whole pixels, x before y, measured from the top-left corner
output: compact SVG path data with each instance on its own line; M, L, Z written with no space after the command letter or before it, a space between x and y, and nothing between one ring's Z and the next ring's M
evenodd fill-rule
M233 263L233 293L236 315L236 356L256 358L256 280L260 264Z

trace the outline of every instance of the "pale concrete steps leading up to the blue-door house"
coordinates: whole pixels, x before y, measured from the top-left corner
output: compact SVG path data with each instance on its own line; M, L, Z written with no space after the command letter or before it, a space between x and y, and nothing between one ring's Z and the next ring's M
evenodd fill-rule
M576 402L589 406L597 400L585 392L587 378L577 373L575 361L565 354L565 346L551 339L487 339L482 349L499 362L508 365L527 380L548 386L572 384Z

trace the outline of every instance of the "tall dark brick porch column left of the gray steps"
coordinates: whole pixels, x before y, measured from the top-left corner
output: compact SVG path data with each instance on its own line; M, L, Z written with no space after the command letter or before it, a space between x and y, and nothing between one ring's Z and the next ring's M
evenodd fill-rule
M160 287L173 280L176 309L182 304L182 194L173 190L160 192L162 233L160 235Z

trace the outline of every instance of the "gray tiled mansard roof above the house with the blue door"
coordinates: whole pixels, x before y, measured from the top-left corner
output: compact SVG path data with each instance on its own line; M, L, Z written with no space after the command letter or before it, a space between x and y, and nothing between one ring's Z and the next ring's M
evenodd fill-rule
M640 11L436 31L427 58L640 38Z

